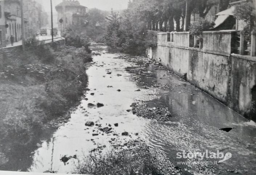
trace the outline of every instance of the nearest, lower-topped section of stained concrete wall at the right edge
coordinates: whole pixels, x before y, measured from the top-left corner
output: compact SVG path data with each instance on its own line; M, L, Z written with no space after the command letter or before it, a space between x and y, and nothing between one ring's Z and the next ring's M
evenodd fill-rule
M251 108L256 107L253 106L255 105L256 99L252 97L252 89L256 85L256 58L231 54L230 59L231 76L229 80L228 100L232 101L232 103L229 103L229 106L247 115L247 113L252 112ZM254 91L254 93L256 92Z

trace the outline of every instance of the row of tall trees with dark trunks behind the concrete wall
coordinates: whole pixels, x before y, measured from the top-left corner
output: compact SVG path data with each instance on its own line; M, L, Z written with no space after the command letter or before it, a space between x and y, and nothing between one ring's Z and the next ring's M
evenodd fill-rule
M176 24L176 31L181 31L185 24L186 29L190 26L192 14L198 14L199 18L204 19L212 7L216 6L219 8L217 11L223 11L233 1L236 0L133 0L129 2L128 8L141 14L140 18L147 22L149 30L174 31Z

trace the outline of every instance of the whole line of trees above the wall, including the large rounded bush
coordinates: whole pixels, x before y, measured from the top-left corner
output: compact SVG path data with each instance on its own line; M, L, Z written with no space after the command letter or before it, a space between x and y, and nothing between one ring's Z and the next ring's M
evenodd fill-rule
M219 8L217 12L223 11L233 1L236 0L133 0L123 12L112 12L112 20L106 24L103 39L114 50L144 54L148 46L156 45L157 34L152 30L174 31L176 26L176 31L181 31L185 23L192 34L210 30L214 22L204 19L210 9L215 6ZM255 26L253 7L252 1L248 0L236 5L234 12L237 19L247 22L248 38ZM198 19L190 24L192 13L197 14Z

